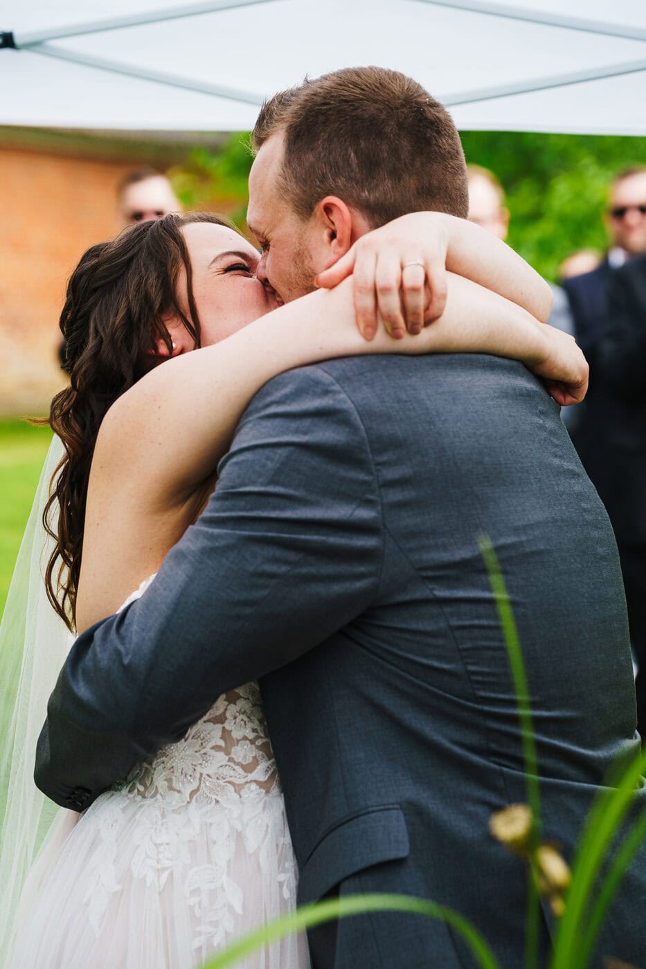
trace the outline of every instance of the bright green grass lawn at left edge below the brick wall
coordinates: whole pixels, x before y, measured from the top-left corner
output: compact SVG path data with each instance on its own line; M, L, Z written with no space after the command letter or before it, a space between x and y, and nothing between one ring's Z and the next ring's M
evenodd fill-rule
M51 431L25 421L0 421L0 613Z

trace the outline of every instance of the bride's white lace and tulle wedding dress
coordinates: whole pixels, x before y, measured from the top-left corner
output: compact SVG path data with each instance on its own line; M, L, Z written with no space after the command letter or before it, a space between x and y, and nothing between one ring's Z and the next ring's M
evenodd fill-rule
M83 814L60 812L25 885L10 966L191 969L293 910L296 880L249 683ZM306 939L278 940L236 965L307 969Z

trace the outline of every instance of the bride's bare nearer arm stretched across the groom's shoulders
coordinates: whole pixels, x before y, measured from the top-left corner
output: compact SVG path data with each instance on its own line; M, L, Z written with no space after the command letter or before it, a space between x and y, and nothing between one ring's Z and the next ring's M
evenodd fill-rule
M199 514L251 397L284 370L362 353L470 351L520 359L572 384L583 379L585 359L569 337L554 343L551 328L462 277L450 277L448 289L433 327L398 342L381 331L367 343L348 280L161 364L123 394L102 424L92 462L79 630L113 613L156 571Z

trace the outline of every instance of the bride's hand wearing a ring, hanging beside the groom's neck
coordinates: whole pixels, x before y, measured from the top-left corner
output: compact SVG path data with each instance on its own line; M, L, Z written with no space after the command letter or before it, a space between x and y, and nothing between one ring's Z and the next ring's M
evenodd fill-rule
M447 217L415 212L362 235L315 279L332 289L352 275L357 326L371 340L379 322L395 339L420 333L446 305ZM423 226L424 231L419 231Z

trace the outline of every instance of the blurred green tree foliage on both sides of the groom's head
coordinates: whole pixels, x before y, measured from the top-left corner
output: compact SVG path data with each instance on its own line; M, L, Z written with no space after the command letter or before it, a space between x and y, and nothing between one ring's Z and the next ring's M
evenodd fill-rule
M603 209L612 177L646 163L646 138L464 132L468 162L496 172L511 212L509 244L547 279L556 280L565 256L603 250ZM251 168L248 134L232 135L221 151L194 151L172 172L187 208L240 200L234 220L243 225Z

